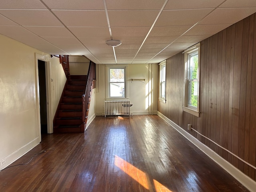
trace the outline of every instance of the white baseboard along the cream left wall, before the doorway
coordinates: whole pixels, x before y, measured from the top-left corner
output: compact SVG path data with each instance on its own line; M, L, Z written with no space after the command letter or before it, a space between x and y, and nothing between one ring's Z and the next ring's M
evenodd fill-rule
M3 165L0 164L0 170L6 168L10 164L12 164L14 161L16 161L18 158L20 158L21 156L23 156L24 154L29 152L32 148L37 146L39 144L39 142L40 142L40 138L39 137L34 138L32 141L30 141L26 145L22 146L18 150L12 152L10 155L8 155L5 158L1 159L0 162L5 160L6 163L3 164Z

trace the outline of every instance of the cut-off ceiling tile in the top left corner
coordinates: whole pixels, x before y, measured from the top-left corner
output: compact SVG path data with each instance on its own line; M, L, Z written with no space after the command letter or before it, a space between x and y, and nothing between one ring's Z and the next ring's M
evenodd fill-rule
M45 9L40 0L1 0L1 9Z

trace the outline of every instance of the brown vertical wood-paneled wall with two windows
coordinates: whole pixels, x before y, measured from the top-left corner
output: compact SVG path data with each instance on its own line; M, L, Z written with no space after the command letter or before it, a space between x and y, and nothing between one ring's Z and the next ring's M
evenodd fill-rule
M182 111L184 55L166 61L166 103L158 111L186 130L187 124L256 166L256 14L201 42L200 116ZM256 180L255 169L196 132L188 131Z

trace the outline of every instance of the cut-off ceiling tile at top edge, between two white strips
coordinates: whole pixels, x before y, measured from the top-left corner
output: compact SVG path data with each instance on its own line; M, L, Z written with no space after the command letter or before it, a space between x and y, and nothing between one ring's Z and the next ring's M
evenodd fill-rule
M160 10L165 0L106 0L108 10Z

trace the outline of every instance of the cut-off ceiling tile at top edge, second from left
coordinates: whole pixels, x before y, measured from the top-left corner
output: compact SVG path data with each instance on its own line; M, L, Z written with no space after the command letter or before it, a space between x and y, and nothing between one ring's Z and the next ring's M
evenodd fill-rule
M50 9L104 10L102 0L43 0Z

